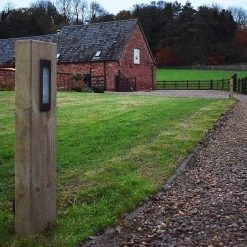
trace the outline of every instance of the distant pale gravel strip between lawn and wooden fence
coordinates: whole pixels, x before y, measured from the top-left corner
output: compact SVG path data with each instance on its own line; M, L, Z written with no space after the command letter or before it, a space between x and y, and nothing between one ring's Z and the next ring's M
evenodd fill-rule
M130 94L130 95L153 95L166 97L197 97L197 98L229 98L229 92L219 90L154 90L154 91L138 91L138 92L107 92L110 94ZM247 95L234 93L234 97L239 100L247 101Z

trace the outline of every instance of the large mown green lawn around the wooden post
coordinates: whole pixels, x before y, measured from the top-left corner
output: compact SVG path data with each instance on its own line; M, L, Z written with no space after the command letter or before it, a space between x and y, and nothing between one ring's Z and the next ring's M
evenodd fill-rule
M14 235L14 93L0 92L0 246L75 246L174 173L233 101L58 93L57 222Z

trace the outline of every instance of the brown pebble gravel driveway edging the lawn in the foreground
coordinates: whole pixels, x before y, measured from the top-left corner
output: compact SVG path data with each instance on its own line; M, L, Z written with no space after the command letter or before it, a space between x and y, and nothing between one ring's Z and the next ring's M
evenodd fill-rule
M80 246L246 247L246 188L247 102L239 102L133 219Z

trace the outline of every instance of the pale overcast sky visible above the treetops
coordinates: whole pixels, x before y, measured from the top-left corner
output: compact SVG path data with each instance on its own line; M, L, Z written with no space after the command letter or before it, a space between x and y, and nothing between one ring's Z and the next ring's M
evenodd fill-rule
M52 0L51 0L52 1ZM14 4L15 7L28 7L31 2L35 2L34 0L0 0L0 9L2 9L8 2ZM90 2L90 0L88 0ZM120 10L128 10L134 4L140 3L150 3L151 0L96 0L96 2L100 3L108 12L116 14ZM165 2L175 2L175 0L167 0ZM178 2L184 4L186 0L178 0ZM218 5L228 8L231 6L234 7L242 7L243 9L247 9L246 2L247 0L190 0L194 7L201 5L211 5L212 3L217 3Z

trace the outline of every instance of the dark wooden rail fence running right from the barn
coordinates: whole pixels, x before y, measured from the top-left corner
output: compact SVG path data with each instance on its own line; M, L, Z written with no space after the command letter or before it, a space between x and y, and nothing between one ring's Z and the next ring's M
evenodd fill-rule
M230 79L157 81L157 90L229 90Z

